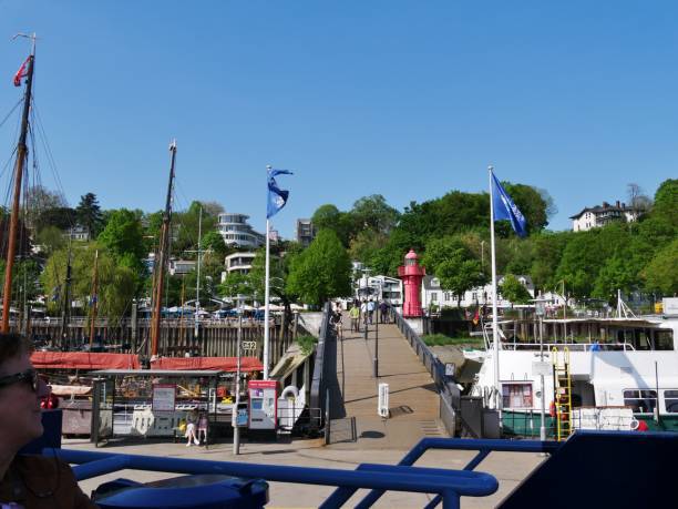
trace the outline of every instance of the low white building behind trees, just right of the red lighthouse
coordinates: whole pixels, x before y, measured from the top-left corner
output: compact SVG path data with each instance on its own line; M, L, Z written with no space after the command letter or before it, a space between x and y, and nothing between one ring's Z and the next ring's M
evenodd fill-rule
M530 276L515 276L523 286L527 289L532 298L534 298L534 284ZM499 292L499 298L496 305L499 307L510 307L511 302L502 297L501 286L504 281L504 276L497 276L496 286ZM442 307L469 307L469 306L491 306L493 302L492 284L485 286L479 286L473 289L466 291L462 296L461 301L458 302L456 294L448 292L441 288L440 279L435 276L424 276L421 282L421 305L424 309L429 309L432 306L436 306L439 309Z

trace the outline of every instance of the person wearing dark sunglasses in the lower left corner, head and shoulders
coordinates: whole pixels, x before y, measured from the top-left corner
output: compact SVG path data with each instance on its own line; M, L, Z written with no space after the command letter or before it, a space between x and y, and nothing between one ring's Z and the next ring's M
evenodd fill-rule
M0 334L0 507L95 508L66 464L56 458L18 455L42 436L40 403L50 394L31 365L30 352L24 337Z

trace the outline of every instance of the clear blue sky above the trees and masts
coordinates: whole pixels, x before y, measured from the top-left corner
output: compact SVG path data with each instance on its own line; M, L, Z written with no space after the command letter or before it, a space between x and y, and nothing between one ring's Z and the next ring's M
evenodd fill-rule
M71 204L222 203L294 235L321 204L399 210L501 180L586 205L678 176L675 2L0 0L0 118L35 31L35 104ZM0 119L1 120L1 119ZM8 160L16 120L0 128ZM47 157L41 180L54 187ZM4 186L6 184L3 184Z

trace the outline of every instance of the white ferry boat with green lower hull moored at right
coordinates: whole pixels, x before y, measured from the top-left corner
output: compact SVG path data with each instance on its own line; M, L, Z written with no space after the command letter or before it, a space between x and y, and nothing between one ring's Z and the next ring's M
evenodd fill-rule
M650 430L678 431L677 317L543 323L544 362L538 343L500 334L499 390L505 435L538 437L542 391L551 436L564 438L577 428L645 429L645 425ZM470 394L483 396L493 408L499 398L489 340L482 357ZM546 373L544 387L540 373Z

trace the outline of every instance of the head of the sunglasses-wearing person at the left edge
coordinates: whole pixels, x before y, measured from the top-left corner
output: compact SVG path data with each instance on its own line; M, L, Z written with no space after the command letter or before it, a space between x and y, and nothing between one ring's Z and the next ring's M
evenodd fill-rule
M0 334L0 437L17 450L42 435L40 400L50 394L30 352L24 337Z

